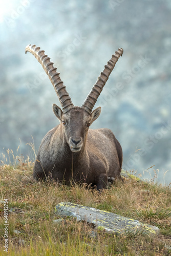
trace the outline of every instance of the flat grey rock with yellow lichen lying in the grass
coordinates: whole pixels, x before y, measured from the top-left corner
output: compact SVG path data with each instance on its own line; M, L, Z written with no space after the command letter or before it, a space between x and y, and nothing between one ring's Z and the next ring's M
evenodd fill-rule
M110 233L148 233L159 234L159 228L143 224L137 220L125 218L112 212L99 210L70 202L61 202L56 205L55 213L62 217L75 217L77 221L86 221L94 224L96 229Z

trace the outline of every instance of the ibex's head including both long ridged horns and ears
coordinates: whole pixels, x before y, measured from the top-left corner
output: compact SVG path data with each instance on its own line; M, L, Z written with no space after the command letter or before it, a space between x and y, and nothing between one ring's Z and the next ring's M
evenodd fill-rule
M36 57L53 84L62 107L61 110L59 106L53 104L53 112L60 121L62 134L66 138L66 142L72 152L75 153L81 151L81 148L83 148L86 143L89 126L101 113L100 107L94 111L92 111L92 109L108 80L109 75L114 69L117 60L122 56L123 49L119 48L108 61L108 65L104 66L105 68L103 72L100 73L91 92L81 107L73 105L71 98L66 91L66 87L59 77L60 73L56 72L56 68L53 67L53 62L50 61L50 57L45 55L45 51L40 50L40 47L36 47L35 45L29 45L26 47L26 53L27 52L32 53Z

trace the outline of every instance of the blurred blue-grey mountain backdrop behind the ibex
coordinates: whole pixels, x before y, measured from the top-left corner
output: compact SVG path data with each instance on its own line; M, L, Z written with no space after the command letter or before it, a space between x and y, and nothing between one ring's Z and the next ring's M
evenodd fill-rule
M35 142L59 122L52 84L28 44L51 57L75 105L81 105L112 54L123 56L97 100L92 128L110 128L123 168L171 182L171 2L169 0L1 1L0 153ZM21 142L20 142L21 141ZM31 155L30 155L31 157ZM155 165L155 166L153 166ZM153 166L152 168L149 168ZM148 169L149 168L149 169ZM148 169L148 170L147 170ZM155 169L155 171L154 171Z

